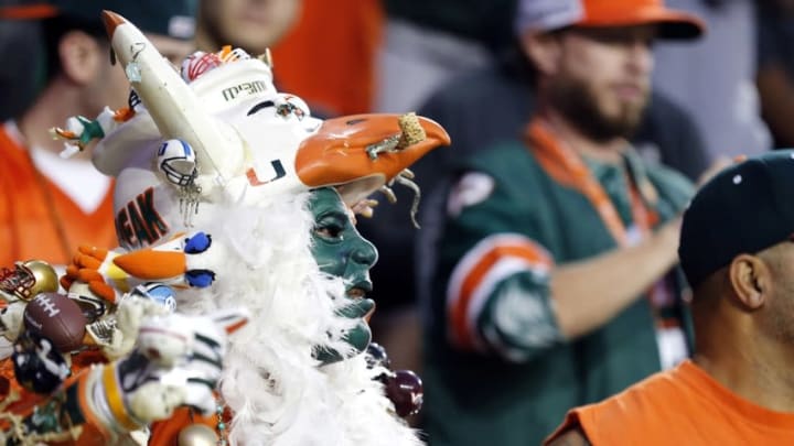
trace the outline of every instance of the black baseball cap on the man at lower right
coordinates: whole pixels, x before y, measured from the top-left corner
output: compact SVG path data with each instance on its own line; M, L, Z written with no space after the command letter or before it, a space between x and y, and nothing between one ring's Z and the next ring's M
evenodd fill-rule
M794 235L794 150L734 164L711 178L684 213L678 258L695 287L739 254Z

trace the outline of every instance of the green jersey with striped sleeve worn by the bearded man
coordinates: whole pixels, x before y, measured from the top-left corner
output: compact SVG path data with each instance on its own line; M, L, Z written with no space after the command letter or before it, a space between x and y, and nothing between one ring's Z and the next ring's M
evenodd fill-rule
M642 186L630 184L654 189L653 199L642 198L654 216L652 227L678 215L694 189L682 175L631 150L623 159L624 166L583 165L632 242L642 237L632 221L632 191ZM426 333L430 444L537 445L569 409L659 370L659 312L648 298L575 341L560 336L550 271L619 242L592 200L561 184L535 148L506 143L464 161L447 211ZM680 303L677 295L675 301Z

